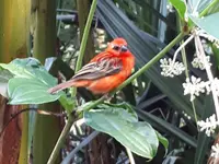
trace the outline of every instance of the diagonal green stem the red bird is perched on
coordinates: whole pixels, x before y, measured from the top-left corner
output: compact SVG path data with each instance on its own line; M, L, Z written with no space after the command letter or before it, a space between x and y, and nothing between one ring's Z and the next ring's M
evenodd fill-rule
M115 94L117 91L122 90L123 87L125 87L127 84L129 84L134 79L138 78L139 75L141 75L143 72L146 72L152 65L154 65L158 60L160 60L174 45L176 45L183 37L184 37L184 33L181 32L165 48L163 48L155 57L153 57L148 63L146 63L140 70L138 70L135 74L132 74L129 79L127 79L123 84L120 84L116 90L114 90L112 94ZM81 114L84 110L89 110L93 107L95 107L96 105L101 104L104 101L104 96L102 96L101 98L99 98L97 101L84 106L83 109L81 110L77 110L78 114ZM56 147L51 153L51 156L48 161L47 164L53 164L54 161L56 160L62 143L71 128L73 124L73 116L70 115L69 119L67 120L66 126L64 127L64 130L58 139L58 142L56 143Z

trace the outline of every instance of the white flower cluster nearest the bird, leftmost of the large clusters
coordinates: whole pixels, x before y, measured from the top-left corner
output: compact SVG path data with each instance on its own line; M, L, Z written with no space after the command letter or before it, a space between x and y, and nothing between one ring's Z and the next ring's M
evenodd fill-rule
M171 58L161 59L160 67L162 69L161 75L173 78L174 75L180 75L185 71L185 67L182 62L173 61Z

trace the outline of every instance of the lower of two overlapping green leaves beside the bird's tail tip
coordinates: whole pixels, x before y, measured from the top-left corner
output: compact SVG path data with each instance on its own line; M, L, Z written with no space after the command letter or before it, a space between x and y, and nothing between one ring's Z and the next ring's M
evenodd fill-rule
M9 81L9 104L43 104L58 99L60 94L49 94L48 89L37 79L13 78Z

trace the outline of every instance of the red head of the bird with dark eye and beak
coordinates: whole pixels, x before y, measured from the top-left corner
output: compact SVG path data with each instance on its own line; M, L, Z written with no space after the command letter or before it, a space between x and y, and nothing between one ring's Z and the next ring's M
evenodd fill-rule
M106 48L106 51L110 51L116 56L128 52L127 42L124 38L115 38L111 42Z

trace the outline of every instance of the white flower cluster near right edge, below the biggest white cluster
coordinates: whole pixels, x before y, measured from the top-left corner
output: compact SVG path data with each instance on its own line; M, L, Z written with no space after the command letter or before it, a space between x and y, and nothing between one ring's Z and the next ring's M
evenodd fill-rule
M200 127L200 131L205 130L205 133L210 137L211 133L215 133L219 122L216 120L216 115L214 114L209 118L206 118L206 121L200 120L197 122L197 125Z

